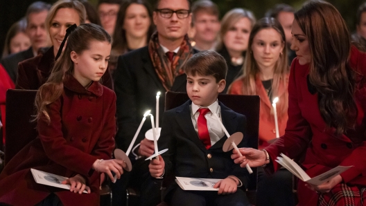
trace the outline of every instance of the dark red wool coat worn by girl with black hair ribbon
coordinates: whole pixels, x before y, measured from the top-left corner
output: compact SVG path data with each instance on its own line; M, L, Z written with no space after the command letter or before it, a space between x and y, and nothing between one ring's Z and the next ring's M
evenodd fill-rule
M51 124L37 122L38 137L8 162L0 174L0 203L35 205L55 193L64 205L99 205L97 159L110 159L116 133L116 95L93 82L85 89L71 75L61 97L49 105ZM39 185L30 168L72 177L84 176L91 194Z

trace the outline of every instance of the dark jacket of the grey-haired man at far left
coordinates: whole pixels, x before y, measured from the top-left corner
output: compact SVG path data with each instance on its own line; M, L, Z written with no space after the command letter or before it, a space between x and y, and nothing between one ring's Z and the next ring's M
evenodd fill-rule
M8 57L1 59L1 64L8 72L12 81L15 82L18 73L18 63L26 59L30 59L32 57L33 57L33 50L32 47L30 46L30 48L28 48L27 50L21 51L20 53L9 55Z

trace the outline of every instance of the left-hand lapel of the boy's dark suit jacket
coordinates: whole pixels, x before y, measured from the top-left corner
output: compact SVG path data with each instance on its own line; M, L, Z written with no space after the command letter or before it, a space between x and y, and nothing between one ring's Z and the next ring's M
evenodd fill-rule
M189 103L191 101L187 101L179 109L177 109L177 113L180 115L176 115L177 122L180 125L180 128L186 133L186 136L189 140L195 142L202 151L206 152L207 149L204 147L204 144L201 142L200 138L198 138L198 134L195 132L193 127L192 119L191 119L191 109Z

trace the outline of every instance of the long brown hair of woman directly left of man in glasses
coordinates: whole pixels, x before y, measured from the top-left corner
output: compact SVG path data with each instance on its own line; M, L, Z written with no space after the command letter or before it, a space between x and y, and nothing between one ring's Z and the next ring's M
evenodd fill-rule
M150 4L146 0L126 0L123 1L121 4L121 8L119 9L117 20L116 20L116 29L114 30L113 34L113 43L112 43L112 51L114 55L123 55L123 53L126 53L128 51L128 43L127 39L125 37L125 29L123 28L123 24L125 22L125 13L128 7L132 3L137 3L146 8L148 10L148 16L150 18L150 28L148 29L148 38L146 41L146 44L148 44L148 41L150 40L151 35L153 35L154 31L154 24L153 24L153 10L151 9Z

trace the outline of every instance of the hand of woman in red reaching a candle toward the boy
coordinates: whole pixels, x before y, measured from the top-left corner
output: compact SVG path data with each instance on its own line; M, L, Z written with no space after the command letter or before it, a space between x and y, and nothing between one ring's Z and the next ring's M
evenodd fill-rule
M240 148L239 151L243 156L239 156L236 149L233 149L232 159L235 164L240 164L241 167L245 167L247 164L250 167L259 167L270 162L270 160L265 160L264 151L252 148Z

